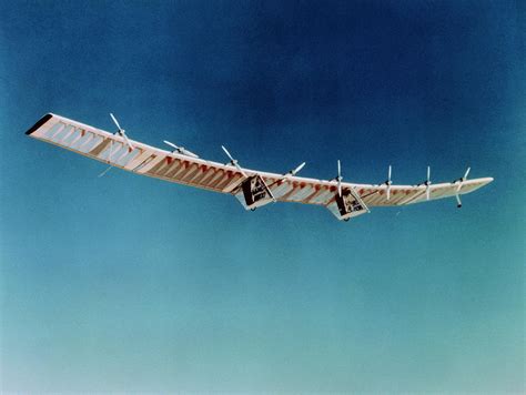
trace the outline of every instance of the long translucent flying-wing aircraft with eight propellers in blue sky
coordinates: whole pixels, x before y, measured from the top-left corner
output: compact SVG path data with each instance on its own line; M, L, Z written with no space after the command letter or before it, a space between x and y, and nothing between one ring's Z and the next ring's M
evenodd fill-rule
M344 221L368 213L374 206L398 206L453 196L461 207L461 195L493 181L492 178L467 180L468 168L457 180L432 184L431 169L427 168L427 179L421 184L394 185L390 166L383 183L355 184L343 182L340 161L337 175L332 180L297 176L305 163L283 174L269 173L242 168L225 146L222 149L230 161L223 164L203 160L169 141L164 142L173 149L171 151L133 141L113 114L110 115L118 128L115 133L48 113L26 134L104 162L110 165L108 170L115 166L135 174L232 194L246 210L273 202L316 204L327 207Z

